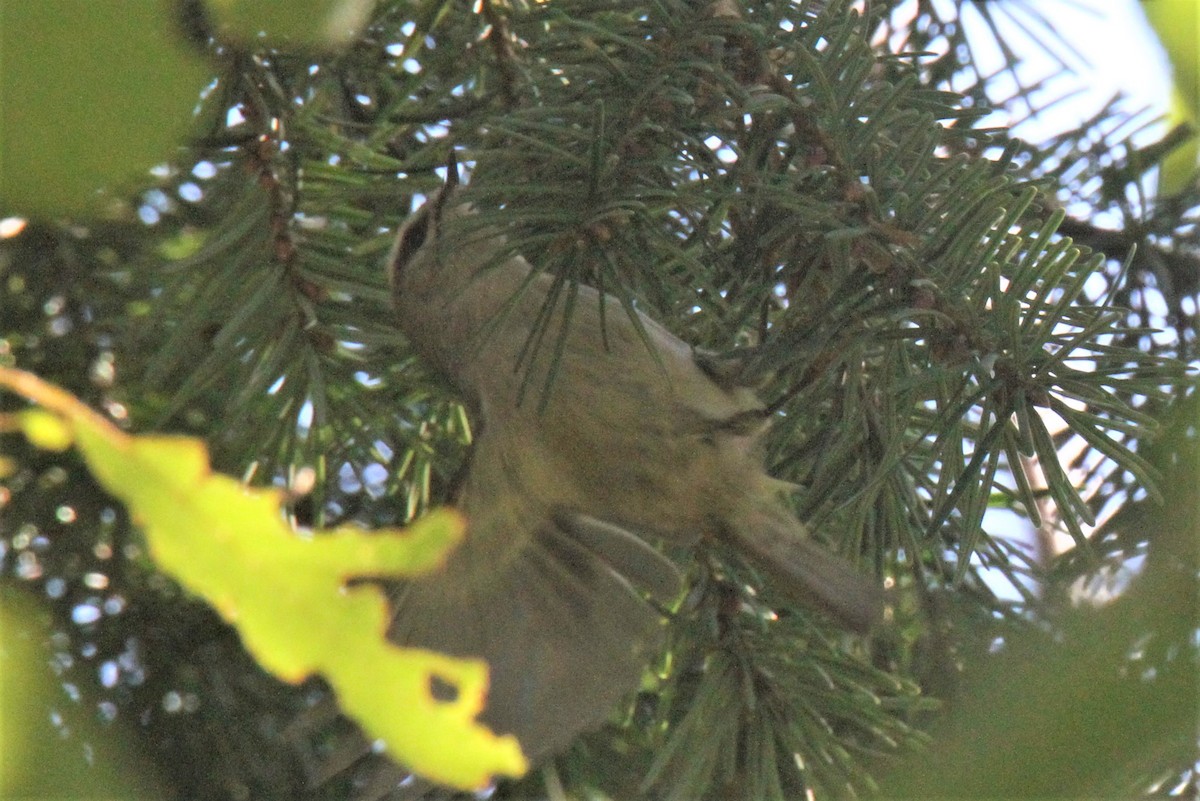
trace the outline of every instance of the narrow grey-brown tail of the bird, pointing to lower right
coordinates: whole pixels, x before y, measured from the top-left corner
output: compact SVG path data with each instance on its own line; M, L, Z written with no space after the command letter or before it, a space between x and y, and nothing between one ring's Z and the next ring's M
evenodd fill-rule
M806 526L772 494L764 494L730 534L739 552L792 601L823 612L858 633L869 632L881 621L883 590L848 561L814 542Z

